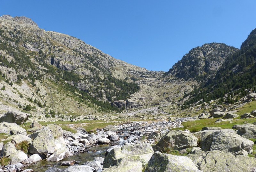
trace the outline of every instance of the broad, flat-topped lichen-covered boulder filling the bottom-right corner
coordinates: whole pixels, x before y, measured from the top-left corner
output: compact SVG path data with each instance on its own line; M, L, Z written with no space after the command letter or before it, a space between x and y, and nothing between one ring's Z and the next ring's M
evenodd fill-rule
M219 150L209 152L194 150L192 153L188 154L188 157L192 159L199 170L207 172L252 172L253 169L255 171L256 167L255 158L243 155L234 156L231 153Z

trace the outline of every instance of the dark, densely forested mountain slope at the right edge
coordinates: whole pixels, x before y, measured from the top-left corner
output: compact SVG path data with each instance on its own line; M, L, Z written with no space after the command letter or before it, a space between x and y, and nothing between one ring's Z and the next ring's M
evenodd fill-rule
M185 106L200 100L208 102L218 98L223 102L223 96L235 90L242 97L245 89L254 86L256 86L256 29L242 43L239 51L226 58L214 79L210 79L190 93L191 98ZM234 93L230 94L233 96Z

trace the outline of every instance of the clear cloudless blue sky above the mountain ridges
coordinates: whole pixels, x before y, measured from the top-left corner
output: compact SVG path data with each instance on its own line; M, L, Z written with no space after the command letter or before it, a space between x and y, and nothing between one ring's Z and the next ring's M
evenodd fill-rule
M255 0L2 0L0 15L26 16L117 59L168 71L204 43L239 48L256 27L255 9Z

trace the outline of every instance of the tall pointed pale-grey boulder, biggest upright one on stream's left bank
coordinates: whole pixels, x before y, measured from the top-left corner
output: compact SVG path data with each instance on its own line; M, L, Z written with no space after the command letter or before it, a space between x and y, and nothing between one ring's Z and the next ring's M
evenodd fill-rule
M52 154L55 151L54 137L49 127L32 133L29 136L33 141L29 146L31 154Z

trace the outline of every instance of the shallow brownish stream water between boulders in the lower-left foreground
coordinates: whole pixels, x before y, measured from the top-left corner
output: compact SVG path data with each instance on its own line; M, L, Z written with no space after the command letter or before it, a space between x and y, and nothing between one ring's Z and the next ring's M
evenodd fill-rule
M94 157L100 156L105 158L106 149L108 149L110 145L101 145L98 147L92 147L89 149L90 152L88 153L80 153L78 155L70 156L68 158L65 158L62 161L71 161L75 160L79 163L79 165L82 165L86 161L93 161ZM95 151L95 152L94 152ZM66 169L68 166L61 166L59 162L52 162L52 161L39 161L36 164L32 164L28 166L27 168L32 168L36 172L45 172L50 167L57 167L60 169Z

